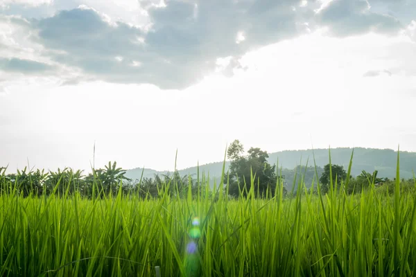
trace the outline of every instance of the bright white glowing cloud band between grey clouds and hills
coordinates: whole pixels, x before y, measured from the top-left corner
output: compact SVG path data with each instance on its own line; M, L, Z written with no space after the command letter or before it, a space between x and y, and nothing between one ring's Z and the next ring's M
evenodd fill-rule
M0 127L3 134L16 134L0 139L7 145L0 162L22 166L28 157L44 168L88 169L94 141L98 165L116 160L123 168L158 170L173 169L176 149L179 168L223 159L233 139L269 152L311 143L315 148L400 143L402 150L416 151L409 139L416 139L415 77L396 72L363 78L365 71L401 64L398 49L404 43L410 42L313 33L250 52L240 60L246 71L232 78L209 75L184 91L104 82L54 87L35 79L16 84L0 101L0 116L31 117L10 118ZM227 67L231 60L221 62ZM31 139L19 139L23 136Z

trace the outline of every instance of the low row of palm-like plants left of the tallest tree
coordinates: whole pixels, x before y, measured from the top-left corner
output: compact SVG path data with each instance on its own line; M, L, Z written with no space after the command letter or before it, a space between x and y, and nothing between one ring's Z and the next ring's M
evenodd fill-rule
M6 174L6 168L0 168L0 193L15 192L24 197L29 195L73 195L80 193L83 197L107 197L136 194L140 197L157 197L163 189L168 189L171 195L184 196L188 192L196 194L198 186L196 179L188 175L180 176L177 171L166 175L155 175L154 178L132 180L125 177L123 168L109 162L104 168L92 170L83 174L83 170L64 168L56 172L44 170L17 170L17 173ZM169 186L168 186L169 185ZM200 186L202 190L202 186Z

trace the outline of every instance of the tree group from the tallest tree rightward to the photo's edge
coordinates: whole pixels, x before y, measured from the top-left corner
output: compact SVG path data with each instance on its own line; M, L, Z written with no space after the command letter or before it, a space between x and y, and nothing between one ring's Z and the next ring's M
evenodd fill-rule
M276 188L278 188L277 184L283 185L284 195L293 195L300 183L309 188L309 193L311 193L311 184L314 184L312 193L318 193L318 181L322 194L328 193L331 186L337 190L343 189L347 194L352 194L361 193L372 185L385 185L387 191L391 193L395 182L395 179L379 177L377 170L372 173L362 170L357 177L349 175L347 178L347 170L343 166L330 163L324 168L297 166L291 171L279 170L276 165L268 163L269 156L266 151L260 148L250 148L247 153L244 154L243 144L239 140L233 141L227 150L227 157L231 163L229 175L225 177L224 184L229 182L229 194L235 197L246 196L252 186L254 186L254 194L257 197L274 196ZM282 175L282 172L294 176L288 178L288 176ZM287 184L286 179L291 179L293 183ZM401 185L411 189L416 186L414 179L401 179Z

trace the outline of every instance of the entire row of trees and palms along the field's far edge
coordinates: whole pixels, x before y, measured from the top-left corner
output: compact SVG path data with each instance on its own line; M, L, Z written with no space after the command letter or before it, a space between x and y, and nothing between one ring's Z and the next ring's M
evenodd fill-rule
M276 168L275 164L268 163L268 153L260 148L250 148L245 154L239 140L229 145L227 158L230 160L230 166L221 184L229 185L224 193L234 198L247 197L251 188L255 197L273 197L279 189L283 195L290 195L297 190L301 182L306 188L314 184L312 193L318 193L316 185L318 181L320 192L325 194L329 192L331 184L340 189L347 179L345 168L336 164L327 164L324 168L297 166L291 171ZM173 196L187 197L191 193L195 197L198 193L205 195L202 192L209 186L209 180L205 177L181 176L177 170L165 175L155 175L153 178L135 180L125 177L125 172L123 168L117 167L115 161L109 162L104 168L94 169L87 175L84 175L82 170L75 171L71 168L58 169L56 172L24 168L12 174L6 174L6 168L0 168L0 193L14 192L28 197L29 195L73 195L77 192L83 197L92 198L121 192L123 195L135 194L145 198L158 197L162 191L168 190ZM285 176L282 172L293 176ZM395 180L380 178L377 175L377 170L372 173L363 170L357 177L349 176L347 186L343 190L347 194L352 194L360 193L373 184L374 186L386 184L392 187ZM287 184L286 177L293 183ZM408 185L415 184L413 179L407 181L402 179L401 182Z

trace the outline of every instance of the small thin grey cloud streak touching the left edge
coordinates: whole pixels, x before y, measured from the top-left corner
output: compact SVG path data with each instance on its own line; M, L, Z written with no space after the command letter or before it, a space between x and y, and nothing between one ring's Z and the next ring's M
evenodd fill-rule
M50 71L53 66L44 64L43 62L36 62L33 60L21 60L15 57L10 59L0 57L0 70L8 72L21 73L39 73L42 71Z

